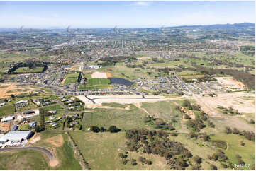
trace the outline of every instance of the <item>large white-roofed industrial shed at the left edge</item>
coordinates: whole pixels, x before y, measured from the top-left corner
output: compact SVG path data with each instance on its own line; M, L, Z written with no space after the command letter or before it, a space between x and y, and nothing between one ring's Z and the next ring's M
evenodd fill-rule
M0 141L21 142L33 136L33 131L11 131L4 136L1 136Z

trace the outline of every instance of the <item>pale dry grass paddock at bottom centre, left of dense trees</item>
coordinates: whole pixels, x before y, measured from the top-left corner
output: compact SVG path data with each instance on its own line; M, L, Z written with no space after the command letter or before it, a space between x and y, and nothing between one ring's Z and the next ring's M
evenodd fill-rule
M126 138L124 132L119 133L91 133L84 131L70 131L77 143L85 160L89 163L91 170L169 170L165 165L165 159L157 155L146 155L140 153L128 153L128 158L136 159L143 156L153 161L152 165L123 165L118 154L123 153ZM118 149L121 148L121 149Z

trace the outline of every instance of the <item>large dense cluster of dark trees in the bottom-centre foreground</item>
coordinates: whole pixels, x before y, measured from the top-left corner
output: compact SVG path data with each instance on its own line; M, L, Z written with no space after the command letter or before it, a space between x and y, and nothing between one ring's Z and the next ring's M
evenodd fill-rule
M170 141L167 137L162 130L131 129L126 131L126 144L129 151L160 155L167 160L171 169L184 170L193 155L182 143Z

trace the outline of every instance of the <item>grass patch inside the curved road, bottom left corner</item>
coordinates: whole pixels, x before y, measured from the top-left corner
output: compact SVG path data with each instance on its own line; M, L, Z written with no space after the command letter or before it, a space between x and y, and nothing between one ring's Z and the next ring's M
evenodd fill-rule
M0 152L0 170L49 170L48 161L39 151Z

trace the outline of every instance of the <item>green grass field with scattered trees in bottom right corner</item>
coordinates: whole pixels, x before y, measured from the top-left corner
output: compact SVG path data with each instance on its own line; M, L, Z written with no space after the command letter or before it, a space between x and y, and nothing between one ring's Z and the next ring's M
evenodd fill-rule
M245 164L250 164L255 161L255 142L249 141L243 136L236 134L216 134L211 136L213 140L225 140L227 142L228 148L223 150L226 153L229 160L233 164L238 164L238 159L235 157L236 154L242 156L242 160L245 161ZM240 141L245 143L245 146L240 145ZM249 170L249 168L245 168Z

